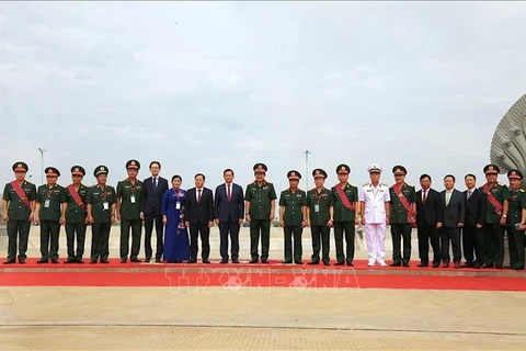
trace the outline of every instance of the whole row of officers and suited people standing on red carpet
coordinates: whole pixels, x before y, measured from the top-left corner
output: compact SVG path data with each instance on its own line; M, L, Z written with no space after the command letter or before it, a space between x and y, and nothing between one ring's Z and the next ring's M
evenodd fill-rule
M3 191L3 220L8 223L8 259L4 264L25 263L30 225L39 224L41 259L38 263L58 263L60 226L66 228L68 257L65 263L83 263L87 226L91 225L92 240L90 263L108 262L110 231L115 219L121 222L121 262L139 260L142 223L145 226L145 261L170 263L196 263L201 238L203 263L209 260L209 233L216 223L220 233L221 263L229 259L239 263L239 230L250 223L250 263L268 263L271 220L276 210L276 191L265 180L267 167L253 167L254 181L243 189L233 183L235 172L224 171L225 183L213 192L205 188L205 176L194 177L195 186L183 190L182 178L173 176L171 186L160 177L161 165L149 165L151 177L137 179L140 163L126 162L127 178L116 188L106 184L108 169L99 166L93 176L96 184L82 184L85 170L71 168L72 183L66 188L57 184L60 172L48 167L46 184L35 188L25 180L28 167L15 162L12 167L15 180ZM279 226L284 228L283 263L302 264L301 236L310 227L312 256L308 264L329 265L330 230L334 228L335 265L354 265L355 226L365 227L367 265L385 267L386 227L392 236L391 267L409 267L411 259L411 231L418 228L420 264L430 265L430 244L433 249L432 267L449 267L449 245L453 246L453 263L460 268L461 246L464 267L503 268L504 233L510 242L510 268L524 269L526 229L526 192L521 189L523 174L518 170L507 172L510 188L496 181L499 167L484 167L487 183L476 188L476 177L467 174L467 190L455 189L455 177L444 178L445 190L431 188L428 174L420 177L421 190L405 183L407 169L395 166L395 184L380 182L382 168L368 167L370 181L362 186L348 183L351 169L339 165L339 183L324 186L327 172L315 169L315 188L299 189L301 174L287 173L289 188L278 199ZM153 257L151 235L157 235ZM190 235L188 235L190 231ZM129 237L132 233L132 248ZM260 251L261 240L261 251ZM403 245L402 245L403 244ZM230 250L229 250L230 246ZM321 251L321 252L320 252ZM321 253L321 254L320 254ZM321 258L321 260L320 260Z

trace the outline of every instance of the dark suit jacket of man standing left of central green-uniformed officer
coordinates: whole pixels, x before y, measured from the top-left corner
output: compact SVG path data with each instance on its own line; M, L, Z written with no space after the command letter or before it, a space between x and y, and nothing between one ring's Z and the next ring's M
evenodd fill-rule
M230 201L228 201L227 185L216 188L214 201L215 217L219 222L238 222L244 217L243 189L235 183L230 185Z

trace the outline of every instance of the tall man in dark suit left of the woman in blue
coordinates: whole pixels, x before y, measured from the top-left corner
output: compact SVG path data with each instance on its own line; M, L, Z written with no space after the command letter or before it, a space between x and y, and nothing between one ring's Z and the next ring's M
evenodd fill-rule
M157 250L156 262L161 262L163 251L163 226L161 215L162 194L168 190L168 181L159 177L161 163L152 161L150 163L151 177L145 179L142 184L142 197L140 201L140 219L145 220L145 262L150 262L151 249L151 231L153 223L156 223Z

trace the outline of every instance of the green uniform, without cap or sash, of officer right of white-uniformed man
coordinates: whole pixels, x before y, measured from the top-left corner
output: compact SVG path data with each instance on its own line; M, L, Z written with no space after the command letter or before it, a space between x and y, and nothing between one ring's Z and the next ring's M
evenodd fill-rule
M400 192L410 205L416 202L416 191L414 186L403 183ZM400 265L402 263L408 265L411 260L411 223L408 222L408 211L397 195L395 185L389 188L389 196L391 199L389 222L392 237L392 264ZM402 239L403 252L401 252Z

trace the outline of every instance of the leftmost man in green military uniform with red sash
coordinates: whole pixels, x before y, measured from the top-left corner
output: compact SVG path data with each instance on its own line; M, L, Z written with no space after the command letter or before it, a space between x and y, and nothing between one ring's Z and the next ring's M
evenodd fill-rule
M19 244L19 263L25 263L36 200L35 184L25 180L30 169L27 165L16 162L12 169L15 180L3 188L2 219L8 223L8 260L3 264L16 262L16 242Z

